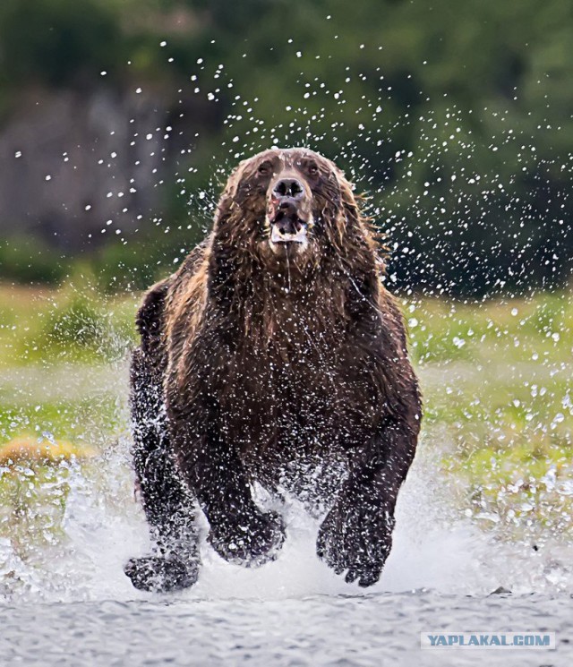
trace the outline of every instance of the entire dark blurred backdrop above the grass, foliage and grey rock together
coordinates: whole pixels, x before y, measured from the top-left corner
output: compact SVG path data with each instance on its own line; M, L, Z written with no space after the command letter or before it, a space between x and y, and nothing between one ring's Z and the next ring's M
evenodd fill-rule
M277 143L370 195L398 286L562 286L572 42L564 0L3 0L0 278L148 285Z

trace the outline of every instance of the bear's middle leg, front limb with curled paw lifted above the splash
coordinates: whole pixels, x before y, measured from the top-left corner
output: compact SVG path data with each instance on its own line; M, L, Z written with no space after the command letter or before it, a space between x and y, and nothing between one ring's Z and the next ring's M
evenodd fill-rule
M245 567L277 557L285 539L275 513L262 512L235 449L218 432L174 434L184 478L210 523L209 542L219 556Z

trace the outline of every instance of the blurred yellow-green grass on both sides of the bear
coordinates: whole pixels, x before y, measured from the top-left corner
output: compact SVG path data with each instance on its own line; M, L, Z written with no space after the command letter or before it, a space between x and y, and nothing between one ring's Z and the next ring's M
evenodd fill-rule
M105 449L125 432L125 359L139 298L89 286L0 288L0 444L26 433ZM502 539L570 539L569 295L412 297L403 308L423 389L420 457L439 461L432 475L455 510ZM30 511L50 475L38 475ZM14 480L0 468L0 496Z

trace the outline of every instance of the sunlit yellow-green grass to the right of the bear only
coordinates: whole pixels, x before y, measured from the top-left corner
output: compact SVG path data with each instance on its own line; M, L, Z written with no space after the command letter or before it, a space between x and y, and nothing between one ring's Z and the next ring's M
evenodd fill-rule
M439 449L459 511L502 539L570 540L569 295L414 305L423 447Z

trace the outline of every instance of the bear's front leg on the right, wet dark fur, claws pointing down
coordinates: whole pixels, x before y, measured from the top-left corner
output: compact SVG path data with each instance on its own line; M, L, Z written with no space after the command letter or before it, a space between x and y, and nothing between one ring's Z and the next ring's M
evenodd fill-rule
M419 415L416 417L419 420ZM387 423L351 461L351 471L319 530L317 553L346 582L372 586L392 546L398 490L415 454L419 423Z

